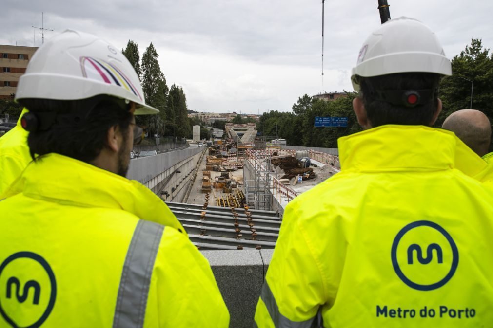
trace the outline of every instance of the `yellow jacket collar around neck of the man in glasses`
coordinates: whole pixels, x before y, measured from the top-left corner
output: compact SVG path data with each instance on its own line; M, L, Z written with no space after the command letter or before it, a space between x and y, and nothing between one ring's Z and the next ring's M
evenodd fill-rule
M56 153L31 162L5 195L19 193L72 206L123 209L185 231L168 206L138 181Z

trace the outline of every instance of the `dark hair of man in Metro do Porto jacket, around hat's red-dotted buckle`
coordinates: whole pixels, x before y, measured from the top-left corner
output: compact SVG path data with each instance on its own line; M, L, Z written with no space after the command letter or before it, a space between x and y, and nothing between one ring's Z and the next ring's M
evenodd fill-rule
M374 77L360 77L361 98L372 127L384 124L431 125L438 106L438 85L441 75L434 73L396 73ZM433 99L423 105L406 107L377 100L374 90L431 89Z

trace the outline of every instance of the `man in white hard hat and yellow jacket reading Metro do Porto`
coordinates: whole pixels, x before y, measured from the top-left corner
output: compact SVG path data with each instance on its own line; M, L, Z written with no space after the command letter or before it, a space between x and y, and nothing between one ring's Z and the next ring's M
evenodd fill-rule
M352 72L365 130L287 205L258 327L493 327L493 192L456 169L482 159L429 127L451 73L419 21L370 34Z

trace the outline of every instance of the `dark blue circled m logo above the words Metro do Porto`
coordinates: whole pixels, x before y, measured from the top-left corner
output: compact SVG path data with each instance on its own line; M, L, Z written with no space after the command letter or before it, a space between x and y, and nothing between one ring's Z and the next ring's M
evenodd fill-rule
M406 275L402 272L402 269L399 267L399 263L397 261L397 246L399 245L399 242L402 239L402 237L406 233L408 233L410 230L417 228L417 227L423 227L423 226L433 228L433 229L437 230L440 234L442 234L445 237L445 239L447 239L447 241L449 242L451 250L452 250L452 264L450 266L450 270L445 275L445 277L443 277L441 280L439 280L435 283L429 284L429 285L418 284L418 283L412 281L411 279L409 279L408 277L406 277ZM411 265L415 264L414 255L416 254L416 259L418 260L418 262L420 264L428 265L433 261L433 258L434 258L433 257L433 251L435 251L435 254L436 254L436 263L442 265L443 264L443 251L442 251L442 247L437 243L430 243L427 246L426 257L423 257L423 249L421 248L420 245L418 245L418 244L409 245L409 247L407 249L407 263L411 264ZM436 224L435 222L424 221L424 220L409 223L408 225L406 225L404 228L402 228L399 231L399 233L397 234L397 236L395 236L394 241L392 243L392 249L390 251L390 257L392 260L392 266L393 266L397 276L409 287L420 290L420 291L431 291L431 290L440 288L443 285L445 285L452 278L454 273L456 272L457 267L458 267L458 263L459 263L459 253L458 253L457 245L456 245L454 239L452 239L452 236L450 236L450 234L445 229L443 229L440 225ZM435 263L435 262L433 261L433 263Z

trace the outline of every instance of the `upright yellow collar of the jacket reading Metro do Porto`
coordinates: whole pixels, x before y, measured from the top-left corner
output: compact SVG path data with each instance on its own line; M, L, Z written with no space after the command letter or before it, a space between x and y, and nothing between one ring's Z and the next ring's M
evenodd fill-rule
M437 171L475 177L486 162L454 133L423 125L383 125L339 138L342 170Z

